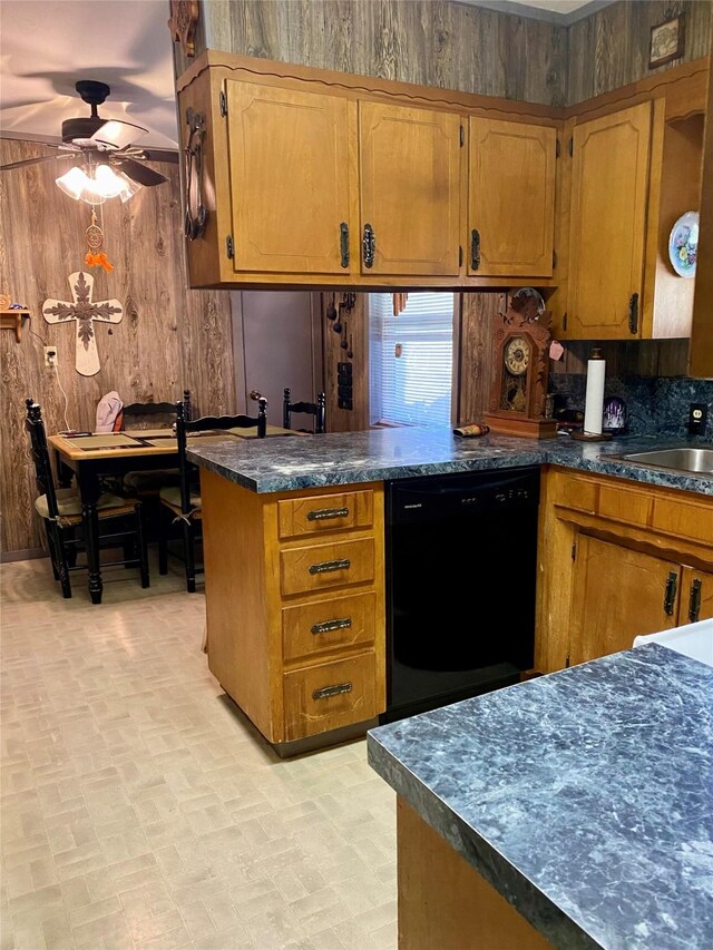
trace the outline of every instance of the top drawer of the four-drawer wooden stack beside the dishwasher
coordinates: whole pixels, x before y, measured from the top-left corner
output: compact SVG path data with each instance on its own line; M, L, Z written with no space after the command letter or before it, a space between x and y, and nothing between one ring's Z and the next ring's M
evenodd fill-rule
M277 519L281 539L370 528L374 520L374 493L372 490L345 491L286 499L277 502Z

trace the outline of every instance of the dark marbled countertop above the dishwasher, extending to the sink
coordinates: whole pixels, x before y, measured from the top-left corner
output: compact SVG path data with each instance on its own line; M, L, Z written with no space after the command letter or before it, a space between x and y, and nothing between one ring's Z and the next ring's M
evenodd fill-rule
M713 496L713 479L633 466L612 456L691 444L681 439L626 437L579 442L507 435L461 439L451 429L371 429L313 438L274 437L212 442L188 457L251 491L293 491L333 484L554 463Z

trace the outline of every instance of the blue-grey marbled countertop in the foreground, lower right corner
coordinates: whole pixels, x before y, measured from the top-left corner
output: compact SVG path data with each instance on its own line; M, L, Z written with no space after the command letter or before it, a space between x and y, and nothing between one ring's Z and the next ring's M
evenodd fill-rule
M660 645L368 734L372 767L555 947L713 947L713 668Z

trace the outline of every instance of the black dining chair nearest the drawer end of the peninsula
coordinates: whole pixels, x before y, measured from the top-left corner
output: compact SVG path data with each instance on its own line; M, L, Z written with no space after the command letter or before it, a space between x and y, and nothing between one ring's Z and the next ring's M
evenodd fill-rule
M204 415L201 419L187 420L183 402L176 403L176 438L178 441L178 473L179 484L160 490L160 503L164 513L172 516L172 523L180 525L183 535L183 560L186 569L186 589L194 594L196 574L203 568L196 566L195 545L201 540L203 512L201 508L201 482L198 469L186 458L187 437L189 432L207 432L226 429L257 429L257 438L264 439L267 433L267 400L257 400L258 411L252 415ZM168 530L164 518L158 541L158 570L168 572Z

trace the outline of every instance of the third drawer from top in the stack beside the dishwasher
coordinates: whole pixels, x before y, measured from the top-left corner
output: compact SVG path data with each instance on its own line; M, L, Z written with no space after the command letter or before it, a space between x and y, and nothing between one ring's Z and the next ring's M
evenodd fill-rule
M283 607L283 657L296 659L353 644L370 644L375 621L373 591Z

